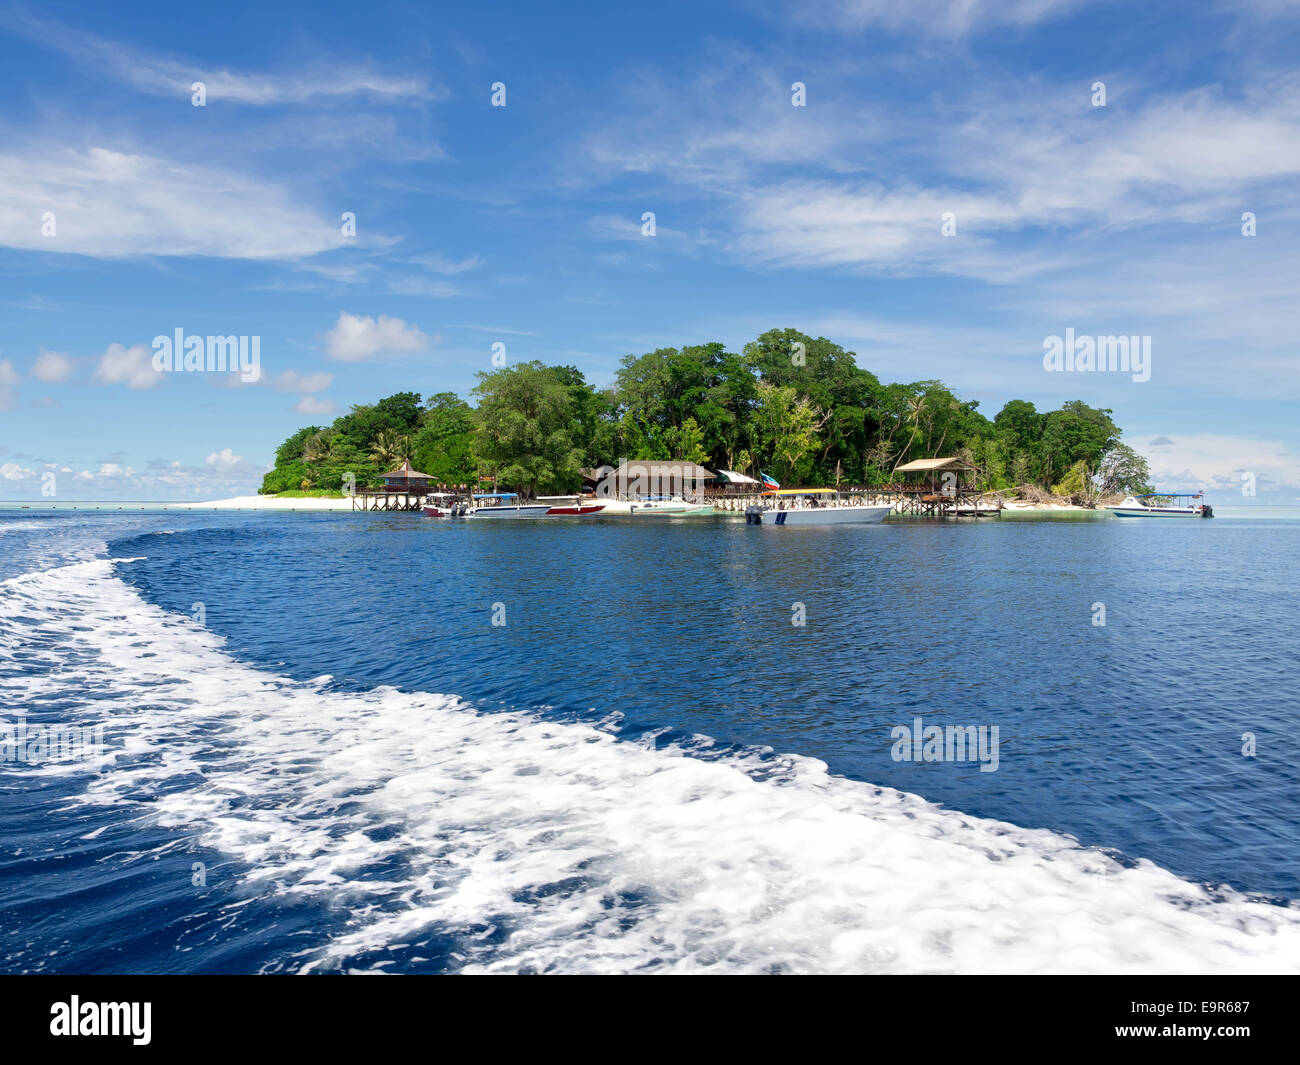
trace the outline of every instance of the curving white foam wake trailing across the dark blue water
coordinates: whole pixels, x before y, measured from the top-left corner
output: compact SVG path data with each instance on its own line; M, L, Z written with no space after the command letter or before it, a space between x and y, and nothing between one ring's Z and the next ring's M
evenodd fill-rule
M242 900L350 910L299 969L437 938L463 971L1300 971L1295 908L807 758L295 683L112 567L0 584L0 694L92 696L109 767L77 801L228 853Z

